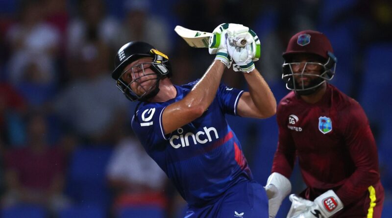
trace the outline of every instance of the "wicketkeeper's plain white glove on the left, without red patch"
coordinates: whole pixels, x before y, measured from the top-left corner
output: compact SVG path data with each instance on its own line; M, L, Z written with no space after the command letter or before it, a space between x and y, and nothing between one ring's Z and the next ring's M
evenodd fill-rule
M291 183L284 175L273 172L268 177L265 189L268 197L269 217L274 218L283 199L291 192Z

